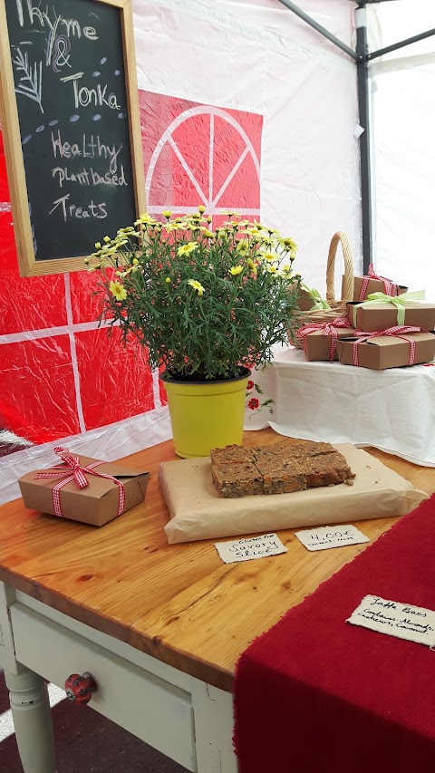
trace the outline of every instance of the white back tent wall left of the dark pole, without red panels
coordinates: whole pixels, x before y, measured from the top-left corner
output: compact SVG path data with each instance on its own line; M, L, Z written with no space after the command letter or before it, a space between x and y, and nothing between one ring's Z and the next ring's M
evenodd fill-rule
M353 2L301 0L299 5L353 45ZM278 0L133 0L133 16L142 104L166 95L262 116L259 216L295 238L295 269L321 292L336 230L348 234L360 268L353 61ZM142 127L142 133L146 130ZM170 205L170 186L165 203ZM337 293L341 274L338 265ZM157 374L153 383L154 411L0 459L0 501L19 496L16 479L25 472L53 464L56 445L73 451L86 447L89 455L115 459L170 437Z

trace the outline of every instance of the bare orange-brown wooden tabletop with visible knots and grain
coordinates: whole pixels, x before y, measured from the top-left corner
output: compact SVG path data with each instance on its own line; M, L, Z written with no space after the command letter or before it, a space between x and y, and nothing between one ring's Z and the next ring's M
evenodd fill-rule
M247 446L282 440L270 429L244 436ZM435 491L433 469L370 452L416 488ZM231 565L222 563L213 540L169 546L157 473L170 459L172 440L129 457L129 466L150 470L146 500L101 528L26 510L21 499L0 507L0 579L230 691L248 644L366 545L310 553L289 529L279 532L287 553ZM359 526L376 539L396 520Z

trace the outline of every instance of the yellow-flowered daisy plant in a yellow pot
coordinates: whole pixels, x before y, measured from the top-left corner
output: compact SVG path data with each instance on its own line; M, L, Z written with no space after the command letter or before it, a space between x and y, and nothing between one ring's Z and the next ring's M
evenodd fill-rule
M294 240L232 213L212 229L204 213L168 211L165 222L144 214L104 237L88 260L100 274L102 319L120 325L123 343L132 335L146 347L160 369L184 457L241 442L250 370L271 362L298 318ZM192 390L198 399L177 417L180 396ZM208 392L219 403L208 406Z

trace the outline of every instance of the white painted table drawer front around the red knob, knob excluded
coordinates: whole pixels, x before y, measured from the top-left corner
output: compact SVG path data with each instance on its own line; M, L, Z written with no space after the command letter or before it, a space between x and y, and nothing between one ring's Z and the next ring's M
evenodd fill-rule
M98 682L89 704L92 709L188 770L197 770L189 692L23 604L13 604L10 611L19 662L62 688L70 674L91 672Z

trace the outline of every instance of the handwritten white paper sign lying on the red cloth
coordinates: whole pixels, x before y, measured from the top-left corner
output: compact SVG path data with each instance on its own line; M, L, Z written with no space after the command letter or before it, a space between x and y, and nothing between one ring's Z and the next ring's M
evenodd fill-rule
M346 623L362 625L409 642L435 646L435 612L422 606L367 595Z

